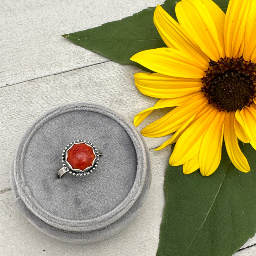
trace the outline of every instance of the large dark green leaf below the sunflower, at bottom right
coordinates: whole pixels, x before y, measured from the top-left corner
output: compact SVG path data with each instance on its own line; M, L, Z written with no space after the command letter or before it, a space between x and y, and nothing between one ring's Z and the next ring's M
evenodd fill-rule
M230 162L225 146L218 169L204 177L167 167L166 205L157 256L229 256L256 232L256 151L240 145L251 171Z

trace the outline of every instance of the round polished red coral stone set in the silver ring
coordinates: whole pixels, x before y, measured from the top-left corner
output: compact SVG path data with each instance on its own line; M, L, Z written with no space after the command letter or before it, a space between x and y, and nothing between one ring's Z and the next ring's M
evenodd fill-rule
M73 169L79 169L81 171L92 166L96 158L92 147L83 142L73 144L73 146L68 149L67 154L68 157L66 161L69 162Z

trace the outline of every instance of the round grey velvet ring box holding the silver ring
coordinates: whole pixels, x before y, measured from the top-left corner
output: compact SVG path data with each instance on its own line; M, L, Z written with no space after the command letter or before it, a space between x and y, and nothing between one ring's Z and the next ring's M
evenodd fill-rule
M61 155L74 140L102 153L87 176L57 178ZM151 181L149 151L140 133L119 114L80 103L52 110L23 136L11 170L15 203L40 231L89 244L116 234L138 212Z

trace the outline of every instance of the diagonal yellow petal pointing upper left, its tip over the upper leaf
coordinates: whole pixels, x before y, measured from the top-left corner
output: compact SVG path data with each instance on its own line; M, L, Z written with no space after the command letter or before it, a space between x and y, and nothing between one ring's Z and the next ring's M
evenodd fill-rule
M190 56L194 62L207 66L209 58L190 39L187 32L167 12L158 5L154 12L155 26L169 48L175 48Z

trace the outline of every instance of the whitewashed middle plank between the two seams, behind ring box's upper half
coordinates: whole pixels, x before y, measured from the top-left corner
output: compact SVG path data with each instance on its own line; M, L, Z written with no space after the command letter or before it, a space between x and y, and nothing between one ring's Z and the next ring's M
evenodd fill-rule
M9 171L18 141L44 112L66 103L89 102L111 108L132 122L135 114L153 106L156 99L142 95L134 85L133 74L138 71L130 65L107 62L0 88L0 143L4 149L0 158L0 190L10 187ZM146 140L152 148L165 138Z

